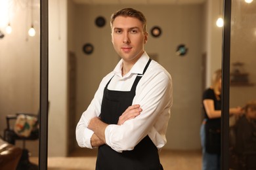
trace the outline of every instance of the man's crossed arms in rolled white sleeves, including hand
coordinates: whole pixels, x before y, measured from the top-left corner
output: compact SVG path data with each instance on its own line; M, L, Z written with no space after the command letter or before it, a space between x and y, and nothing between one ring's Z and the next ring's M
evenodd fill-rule
M106 82L102 81L93 101L77 123L77 144L87 148L108 144L117 152L122 152L133 150L144 136L151 135L161 148L166 143L162 134L166 131L172 105L171 76L160 71L145 79L146 81L137 87L138 93L133 99L133 103L139 105L128 107L119 117L117 124L104 124L98 118L108 79L109 77Z

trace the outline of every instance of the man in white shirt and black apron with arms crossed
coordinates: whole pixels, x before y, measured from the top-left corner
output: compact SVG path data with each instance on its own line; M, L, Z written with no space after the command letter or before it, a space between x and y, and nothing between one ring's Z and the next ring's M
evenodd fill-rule
M144 52L146 18L135 9L111 17L121 57L106 75L76 128L81 147L98 147L96 169L162 169L158 150L173 103L171 76Z

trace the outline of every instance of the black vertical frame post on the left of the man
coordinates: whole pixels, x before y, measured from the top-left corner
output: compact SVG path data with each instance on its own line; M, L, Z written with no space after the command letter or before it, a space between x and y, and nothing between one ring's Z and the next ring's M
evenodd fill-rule
M47 170L48 155L48 0L40 0L40 112L39 169Z

